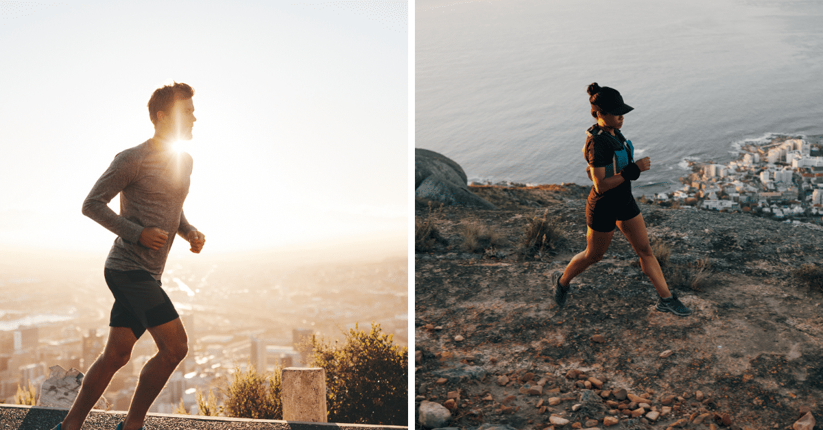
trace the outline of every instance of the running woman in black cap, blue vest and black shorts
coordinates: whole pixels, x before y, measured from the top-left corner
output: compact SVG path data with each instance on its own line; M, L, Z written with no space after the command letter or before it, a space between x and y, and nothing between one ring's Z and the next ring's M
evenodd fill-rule
M586 172L594 183L586 200L586 249L575 255L564 271L551 274L555 302L558 307L565 306L571 280L602 259L616 226L637 252L640 268L658 291L655 308L686 317L692 311L681 303L677 294L669 291L663 270L649 245L643 215L631 195L631 181L651 168L649 157L635 161L634 146L620 132L623 115L634 108L623 103L620 92L598 86L597 82L588 86L587 92L597 123L586 131L588 137L583 149L588 163Z

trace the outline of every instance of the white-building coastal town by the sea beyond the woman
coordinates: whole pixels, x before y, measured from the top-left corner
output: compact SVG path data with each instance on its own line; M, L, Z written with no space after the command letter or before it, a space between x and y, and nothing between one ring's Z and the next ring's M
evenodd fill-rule
M639 197L661 206L751 213L800 224L821 224L823 156L817 144L779 136L741 147L728 164L688 161L683 187Z

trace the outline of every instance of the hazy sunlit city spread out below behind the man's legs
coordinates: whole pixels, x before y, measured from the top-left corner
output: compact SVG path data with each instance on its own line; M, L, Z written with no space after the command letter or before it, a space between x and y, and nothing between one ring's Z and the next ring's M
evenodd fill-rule
M105 346L114 303L103 279L105 255L54 260L18 255L0 263L5 403L14 403L18 386L39 389L54 365L86 372ZM225 387L235 367L248 363L266 371L305 365L299 345L307 336L342 340L356 325L370 331L374 321L394 344L408 344L406 257L288 265L264 257L170 257L161 281L184 322L189 348L151 412L172 413L183 400L196 414L198 390ZM142 365L155 353L146 332L105 391L111 409L128 409Z

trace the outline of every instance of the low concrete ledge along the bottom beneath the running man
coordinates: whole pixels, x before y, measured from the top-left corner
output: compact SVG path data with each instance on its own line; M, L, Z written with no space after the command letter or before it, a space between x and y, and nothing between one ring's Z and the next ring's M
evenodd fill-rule
M6 430L50 430L63 420L68 409L0 404L0 428ZM122 410L92 409L83 430L114 430L125 418ZM379 426L341 423L305 423L277 419L204 417L199 415L148 414L146 430L400 430L402 426Z

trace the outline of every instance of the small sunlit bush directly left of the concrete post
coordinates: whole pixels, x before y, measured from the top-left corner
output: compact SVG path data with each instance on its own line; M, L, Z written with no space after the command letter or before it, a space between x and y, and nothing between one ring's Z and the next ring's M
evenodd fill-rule
M264 374L251 365L235 367L223 408L235 418L283 419L280 388L280 369Z

